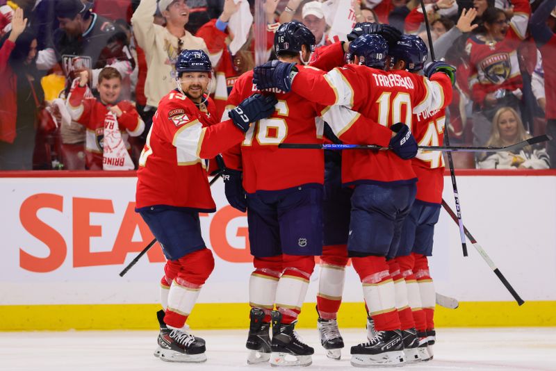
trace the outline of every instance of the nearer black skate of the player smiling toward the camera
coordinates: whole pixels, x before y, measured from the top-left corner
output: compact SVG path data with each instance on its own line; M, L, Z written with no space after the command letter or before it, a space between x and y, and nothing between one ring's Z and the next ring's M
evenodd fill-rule
M159 358L166 362L204 362L206 361L205 343L185 329L167 329L167 333L158 335L161 348Z

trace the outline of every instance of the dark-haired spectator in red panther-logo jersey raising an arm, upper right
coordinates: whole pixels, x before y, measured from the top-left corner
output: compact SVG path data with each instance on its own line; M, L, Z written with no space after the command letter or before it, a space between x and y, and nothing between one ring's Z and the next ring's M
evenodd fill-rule
M475 145L484 145L488 140L499 108L509 106L519 111L523 79L517 48L525 38L531 7L528 0L514 0L514 6L512 19L498 8L484 10L484 32L472 35L466 44Z

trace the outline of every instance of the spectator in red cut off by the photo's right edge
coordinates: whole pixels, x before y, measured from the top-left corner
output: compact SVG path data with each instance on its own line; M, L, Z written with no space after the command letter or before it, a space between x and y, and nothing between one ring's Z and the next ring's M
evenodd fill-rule
M545 0L537 10L535 10L531 19L531 35L537 44L541 54L541 65L537 65L537 76L541 79L545 97L537 97L539 104L543 107L546 117L546 133L552 135L553 140L548 142L548 155L550 156L550 167L556 168L556 67L554 59L556 58L556 0ZM534 87L535 85L533 85ZM541 96L541 94L537 94Z

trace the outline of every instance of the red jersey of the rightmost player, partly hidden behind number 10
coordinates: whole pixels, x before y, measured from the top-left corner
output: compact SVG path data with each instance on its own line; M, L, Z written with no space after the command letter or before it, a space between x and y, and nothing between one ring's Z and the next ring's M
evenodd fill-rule
M425 110L413 116L413 135L420 146L441 146L446 122L445 108ZM444 189L444 157L441 151L419 150L411 165L417 175L416 199L440 204Z

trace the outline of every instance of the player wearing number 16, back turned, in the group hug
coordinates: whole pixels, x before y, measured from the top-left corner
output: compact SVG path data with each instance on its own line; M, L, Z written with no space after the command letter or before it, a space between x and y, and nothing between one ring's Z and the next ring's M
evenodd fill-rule
M309 73L318 71L304 67L314 46L313 34L299 22L282 24L275 33L278 58ZM256 90L252 74L240 76L228 104L235 105ZM272 365L309 365L313 348L302 343L294 327L309 287L314 256L322 252L324 159L321 151L281 151L278 145L322 142L323 123L316 117L325 107L297 94L272 91L278 99L275 113L252 126L241 146L223 154L226 195L240 211L247 208L254 256L247 349L259 352L260 358L251 352L247 361L268 361L272 352ZM277 311L272 311L275 304ZM296 361L286 361L286 354L295 356Z

